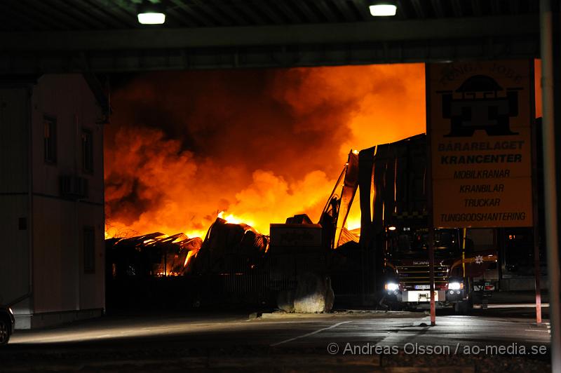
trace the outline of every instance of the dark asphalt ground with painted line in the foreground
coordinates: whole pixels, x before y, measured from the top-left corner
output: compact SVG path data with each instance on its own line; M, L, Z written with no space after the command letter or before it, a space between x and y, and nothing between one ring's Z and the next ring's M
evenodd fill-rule
M422 312L109 316L16 332L0 348L0 370L497 372L512 365L516 372L527 364L544 372L548 324L536 325L531 315L440 313L433 327Z

